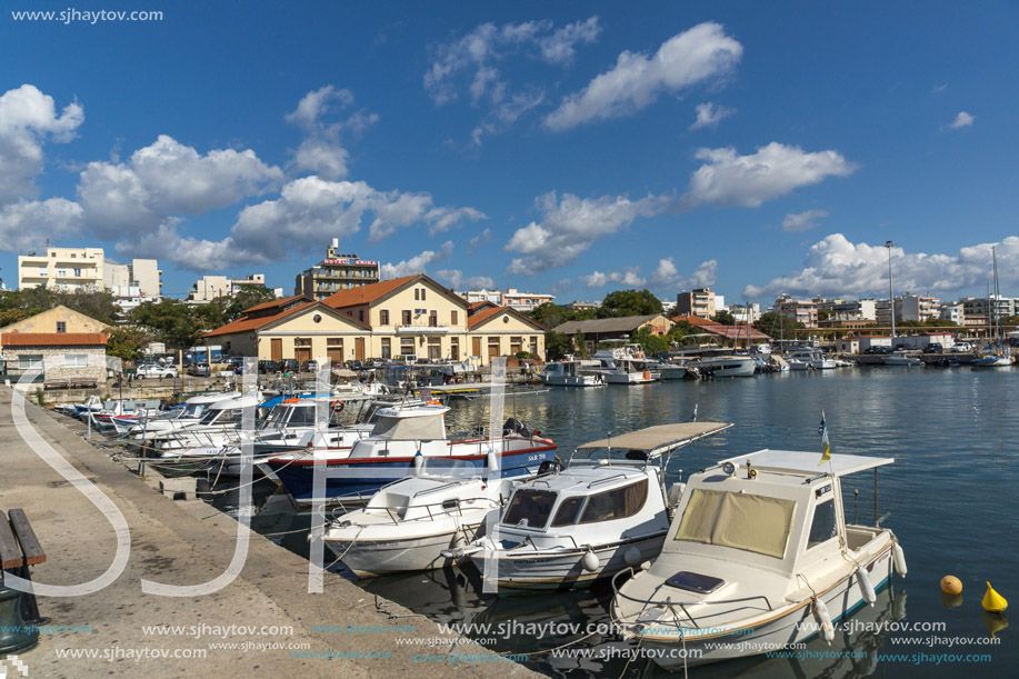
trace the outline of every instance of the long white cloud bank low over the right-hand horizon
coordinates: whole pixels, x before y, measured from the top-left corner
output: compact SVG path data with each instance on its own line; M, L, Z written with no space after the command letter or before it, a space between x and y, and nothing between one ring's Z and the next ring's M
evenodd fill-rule
M1019 237L998 243L961 248L957 254L907 253L895 247L892 269L896 292L930 292L945 296L982 290L991 271L991 247L997 246L998 270L1008 284L1019 283ZM867 297L888 294L888 249L885 246L850 242L832 233L812 244L803 268L772 279L763 286L747 286L748 299L763 299L782 292L797 296Z

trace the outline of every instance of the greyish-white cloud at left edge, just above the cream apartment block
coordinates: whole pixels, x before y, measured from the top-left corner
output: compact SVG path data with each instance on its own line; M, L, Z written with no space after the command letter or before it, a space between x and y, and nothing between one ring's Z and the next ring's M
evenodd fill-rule
M0 208L0 249L8 252L43 247L81 231L81 206L63 198L19 201Z

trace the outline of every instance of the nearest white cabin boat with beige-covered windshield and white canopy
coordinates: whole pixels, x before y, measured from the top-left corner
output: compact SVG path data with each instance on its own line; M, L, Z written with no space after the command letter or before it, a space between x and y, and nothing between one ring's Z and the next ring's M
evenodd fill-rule
M613 580L623 636L667 669L830 641L893 569L905 576L891 530L847 525L840 483L893 459L832 456L826 470L819 457L762 450L691 476L661 555Z

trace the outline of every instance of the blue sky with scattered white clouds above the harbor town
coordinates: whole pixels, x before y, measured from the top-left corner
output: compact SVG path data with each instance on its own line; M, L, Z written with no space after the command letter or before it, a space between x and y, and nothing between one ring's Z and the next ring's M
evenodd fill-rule
M329 240L558 301L1019 282L1011 3L164 3L0 17L0 267L156 257L164 291ZM7 11L7 10L6 10ZM80 14L79 14L80 16Z

